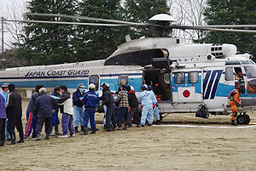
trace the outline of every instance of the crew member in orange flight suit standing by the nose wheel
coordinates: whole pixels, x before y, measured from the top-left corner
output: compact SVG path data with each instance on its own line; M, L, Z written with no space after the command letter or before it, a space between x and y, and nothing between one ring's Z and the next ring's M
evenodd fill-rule
M238 89L240 88L240 86L241 86L240 83L236 82L235 89L233 89L229 95L229 100L230 100L229 105L231 107L231 111L233 112L231 116L231 125L234 125L234 126L237 125L236 123L237 106L241 106L241 100L239 97L240 94L238 92Z

